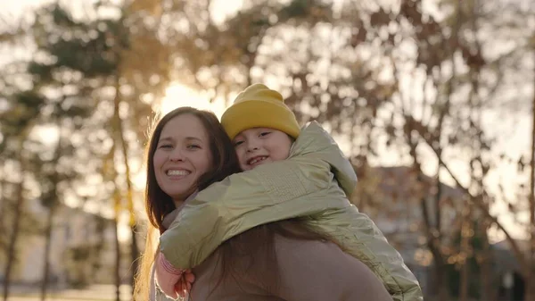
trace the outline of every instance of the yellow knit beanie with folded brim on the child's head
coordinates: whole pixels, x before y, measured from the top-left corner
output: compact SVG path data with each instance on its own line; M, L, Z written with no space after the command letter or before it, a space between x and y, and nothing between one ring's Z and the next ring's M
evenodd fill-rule
M251 128L270 128L283 131L297 138L300 127L283 96L262 84L253 84L236 96L229 106L221 124L229 138L234 139L243 130Z

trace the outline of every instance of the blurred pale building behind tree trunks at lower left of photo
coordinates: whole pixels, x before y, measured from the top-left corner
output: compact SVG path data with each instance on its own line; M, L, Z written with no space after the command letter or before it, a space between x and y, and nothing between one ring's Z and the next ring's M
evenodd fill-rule
M35 201L28 213L35 216L37 225L44 229L48 209ZM18 242L17 264L12 271L12 284L39 285L45 268L45 235L32 231ZM60 205L55 214L50 250L49 281L58 288L83 287L88 284L114 283L115 227L113 221L79 208ZM128 247L121 247L128 251ZM121 255L121 275L128 282L129 255ZM4 279L4 269L0 279Z

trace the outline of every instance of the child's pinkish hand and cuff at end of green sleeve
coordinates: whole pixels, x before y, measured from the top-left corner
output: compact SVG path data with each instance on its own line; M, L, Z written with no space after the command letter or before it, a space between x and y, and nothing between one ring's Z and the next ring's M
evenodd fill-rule
M158 253L155 264L156 268L154 273L158 287L166 296L176 299L179 294L177 294L178 291L175 286L183 279L186 279L185 271L175 268L167 259L165 259L165 256L161 252ZM193 275L191 271L189 273ZM191 288L191 284L189 287ZM187 285L185 288L187 288Z

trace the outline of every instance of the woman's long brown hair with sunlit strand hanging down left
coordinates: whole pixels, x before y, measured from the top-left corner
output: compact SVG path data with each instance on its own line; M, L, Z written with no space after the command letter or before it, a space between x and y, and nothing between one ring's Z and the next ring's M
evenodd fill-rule
M199 179L198 188L207 188L210 184L225 179L227 176L239 171L238 161L235 155L234 146L226 136L225 130L218 121L218 117L209 111L198 110L192 107L180 107L164 115L153 127L145 152L145 163L147 169L147 181L145 186L145 211L148 216L147 238L145 241L144 254L141 257L141 265L136 277L135 299L147 300L150 291L150 278L154 255L156 254L157 239L160 233L165 230L163 218L165 215L175 210L175 204L170 196L161 190L156 181L154 172L153 156L160 140L161 130L173 118L191 114L199 119L208 133L210 140L210 152L213 162L210 164L210 171L206 172ZM180 130L180 129L177 129Z

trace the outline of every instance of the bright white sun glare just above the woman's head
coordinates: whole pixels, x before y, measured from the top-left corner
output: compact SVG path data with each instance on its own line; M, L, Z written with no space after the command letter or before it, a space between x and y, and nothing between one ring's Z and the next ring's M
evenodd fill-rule
M187 88L180 84L169 86L161 101L161 113L169 113L181 106L192 106L197 109L209 110L215 113L218 118L221 118L221 115L226 108L225 101L221 99L215 99L210 102L210 96L199 93L191 88Z

